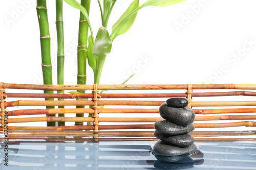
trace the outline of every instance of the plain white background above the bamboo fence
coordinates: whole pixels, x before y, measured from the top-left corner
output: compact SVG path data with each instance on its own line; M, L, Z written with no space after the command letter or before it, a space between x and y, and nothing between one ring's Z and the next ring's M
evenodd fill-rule
M109 32L131 2L117 1ZM253 0L187 0L140 10L131 30L113 41L100 84L119 84L133 73L136 75L128 84L256 84L255 5ZM0 2L0 82L42 84L35 7L36 1ZM47 8L53 84L57 84L55 1L48 1ZM80 13L66 3L63 12L65 84L76 84ZM91 3L90 21L96 36L101 26L96 0ZM87 77L87 84L92 84L89 66Z

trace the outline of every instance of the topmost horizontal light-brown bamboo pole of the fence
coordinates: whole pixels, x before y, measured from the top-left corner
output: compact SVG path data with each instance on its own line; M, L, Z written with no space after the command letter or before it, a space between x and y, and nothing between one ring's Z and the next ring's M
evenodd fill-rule
M36 90L93 90L93 85L32 85L3 83L3 88ZM98 90L187 89L187 84L98 85ZM253 84L193 84L192 89L256 89Z

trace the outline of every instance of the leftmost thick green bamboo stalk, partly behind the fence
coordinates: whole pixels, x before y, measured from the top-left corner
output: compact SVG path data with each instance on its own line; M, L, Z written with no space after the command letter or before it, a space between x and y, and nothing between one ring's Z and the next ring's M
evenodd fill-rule
M51 39L47 15L46 0L37 0L36 12L40 29L40 44L42 58L42 75L44 84L52 85L52 63L51 63ZM45 93L53 93L53 91L44 90ZM45 99L53 100L53 99ZM54 108L54 107L47 107ZM55 116L55 115L52 115ZM55 122L47 123L47 126L55 126Z

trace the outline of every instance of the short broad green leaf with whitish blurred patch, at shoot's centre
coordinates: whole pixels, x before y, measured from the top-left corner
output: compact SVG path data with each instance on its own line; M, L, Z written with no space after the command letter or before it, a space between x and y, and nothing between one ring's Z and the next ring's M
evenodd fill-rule
M112 42L108 30L100 27L93 44L93 56L97 56L99 62L103 61L111 52Z

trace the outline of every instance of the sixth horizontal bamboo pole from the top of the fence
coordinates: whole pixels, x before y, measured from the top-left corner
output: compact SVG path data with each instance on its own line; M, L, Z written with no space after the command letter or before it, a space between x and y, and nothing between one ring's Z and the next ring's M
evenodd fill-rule
M256 127L256 122L244 121L234 123L216 123L216 124L194 124L196 128L225 128L225 127ZM3 131L2 127L0 127ZM93 130L94 126L59 126L59 127L13 127L9 126L8 130ZM99 130L110 129L154 129L153 124L146 125L99 125Z

